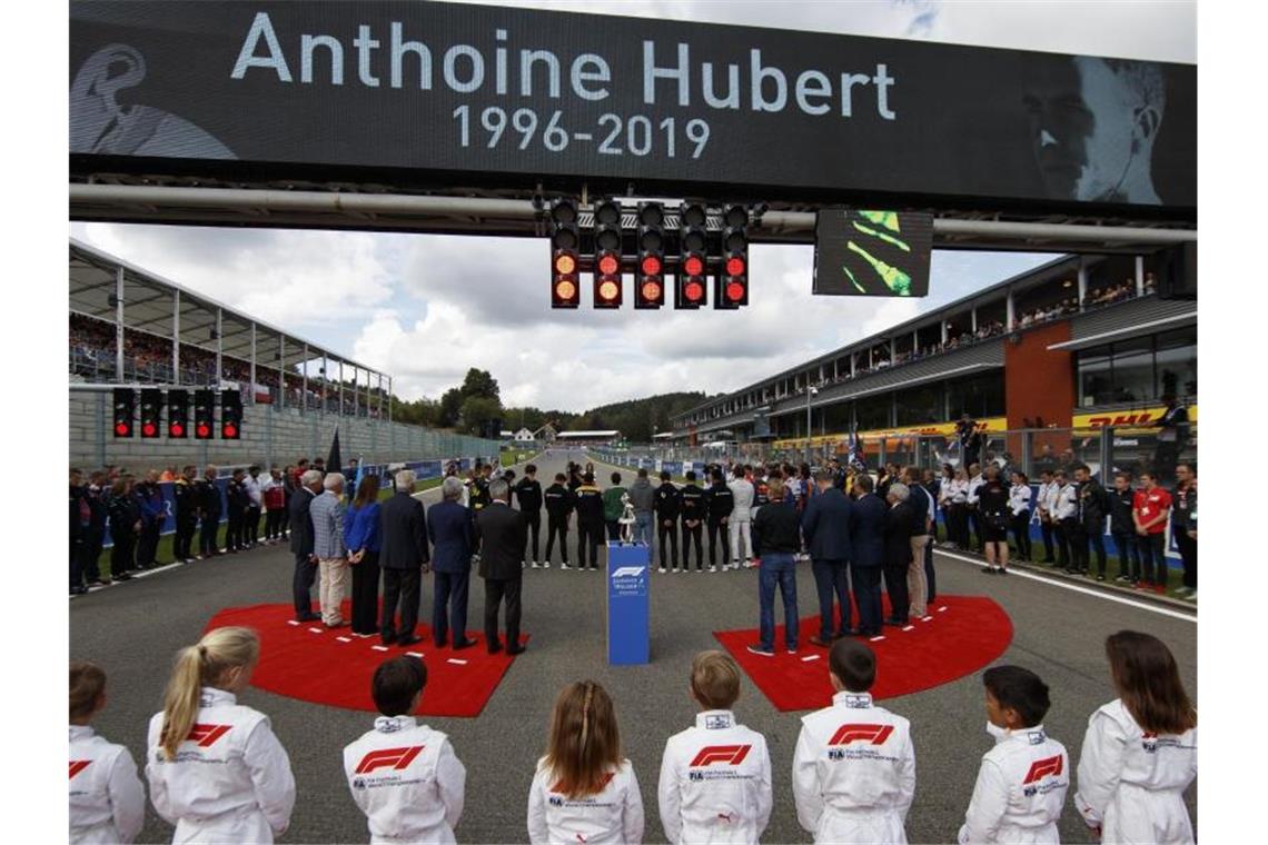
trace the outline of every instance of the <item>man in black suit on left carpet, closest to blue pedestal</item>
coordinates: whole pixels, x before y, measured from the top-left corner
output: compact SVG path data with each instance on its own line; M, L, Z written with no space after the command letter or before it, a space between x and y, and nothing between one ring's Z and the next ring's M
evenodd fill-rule
M508 500L511 488L502 479L488 485L489 504L476 514L476 535L479 542L479 576L484 579L484 640L488 652L497 654L502 642L497 639L497 612L506 599L506 654L524 651L520 645L520 587L524 583L524 543L527 524L524 514L512 511Z

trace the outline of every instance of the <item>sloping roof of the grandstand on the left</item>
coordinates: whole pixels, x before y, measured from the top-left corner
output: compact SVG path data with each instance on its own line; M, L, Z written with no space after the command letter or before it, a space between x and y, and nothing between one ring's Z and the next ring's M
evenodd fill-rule
M320 343L287 332L276 326L245 314L216 299L191 290L156 272L143 270L82 241L70 238L70 310L96 319L115 322L115 274L123 270L123 326L127 329L176 337L175 300L179 294L179 341L214 352L216 321L221 314L219 338L222 353L243 361L251 360L251 329L255 327L256 366L294 367L322 357L331 364L342 362L365 372L387 378L374 367L354 361ZM304 348L307 347L307 355ZM280 353L280 355L279 355ZM331 379L350 378L333 367Z

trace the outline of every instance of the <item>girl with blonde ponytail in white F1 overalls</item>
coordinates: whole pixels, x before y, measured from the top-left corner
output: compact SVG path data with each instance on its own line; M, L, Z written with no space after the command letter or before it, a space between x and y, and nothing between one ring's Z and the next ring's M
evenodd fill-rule
M269 717L237 703L260 659L249 628L214 628L180 651L164 709L150 720L150 799L174 842L271 842L295 779Z

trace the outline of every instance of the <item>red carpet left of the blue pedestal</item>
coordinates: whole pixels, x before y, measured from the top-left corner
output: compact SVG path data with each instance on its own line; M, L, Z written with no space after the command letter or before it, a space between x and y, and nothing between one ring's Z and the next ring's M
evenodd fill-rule
M345 602L345 619L349 613ZM454 651L453 646L437 649L430 626L420 625L415 636L424 641L406 649L383 646L378 637L355 637L347 626L331 630L321 622L297 625L293 616L290 604L235 607L217 613L207 628L241 625L260 633L260 665L251 678L254 687L314 704L369 712L378 712L370 698L370 678L387 658L422 655L427 688L420 713L465 717L481 715L514 660L505 651L488 654L483 633L468 631L467 636L477 640L477 645ZM526 642L527 637L521 633L520 641Z

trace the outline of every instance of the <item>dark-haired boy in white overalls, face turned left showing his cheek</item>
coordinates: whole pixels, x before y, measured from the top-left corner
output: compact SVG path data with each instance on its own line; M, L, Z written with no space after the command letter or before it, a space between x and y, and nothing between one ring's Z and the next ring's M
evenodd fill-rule
M981 758L960 845L1060 841L1056 822L1070 788L1065 746L1044 731L1051 702L1047 684L1021 666L992 666L987 732L995 746Z

